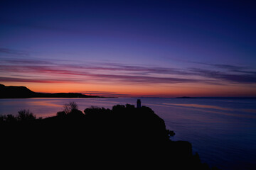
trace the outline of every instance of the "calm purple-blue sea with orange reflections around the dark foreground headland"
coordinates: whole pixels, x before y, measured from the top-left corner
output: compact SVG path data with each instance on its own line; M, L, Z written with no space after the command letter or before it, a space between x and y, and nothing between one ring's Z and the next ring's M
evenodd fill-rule
M141 98L174 130L172 140L187 140L202 162L223 170L256 169L256 100L216 98ZM90 106L112 108L136 104L137 98L0 99L0 115L30 109L38 117L61 111L75 101L81 111Z

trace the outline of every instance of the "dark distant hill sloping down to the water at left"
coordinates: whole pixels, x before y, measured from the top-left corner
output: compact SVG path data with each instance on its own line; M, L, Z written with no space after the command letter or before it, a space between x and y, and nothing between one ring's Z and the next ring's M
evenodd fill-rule
M0 84L0 98L101 98L100 96L87 96L78 93L45 94L36 93L26 86L4 86Z

